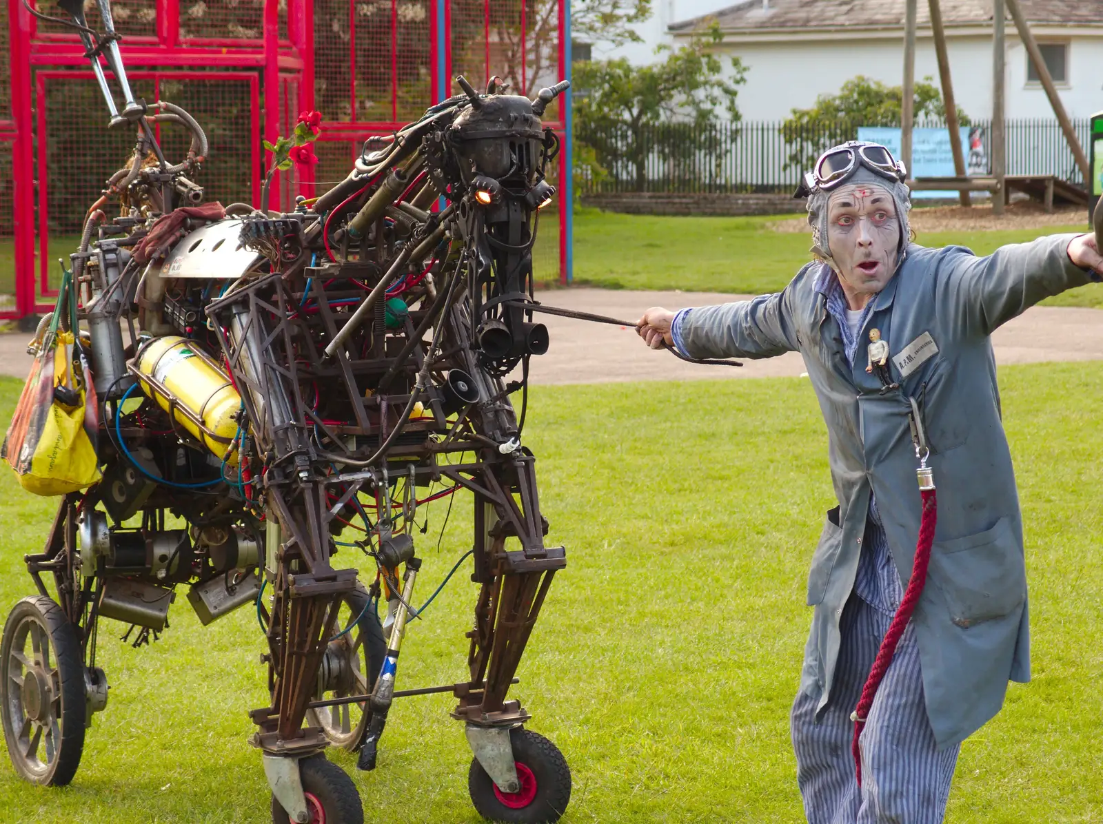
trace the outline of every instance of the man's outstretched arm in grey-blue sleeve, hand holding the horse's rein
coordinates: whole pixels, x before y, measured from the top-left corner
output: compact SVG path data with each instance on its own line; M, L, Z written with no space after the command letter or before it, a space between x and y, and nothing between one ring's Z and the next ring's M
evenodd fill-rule
M652 349L665 343L692 358L769 358L797 348L788 289L677 313L654 306L643 313L636 332Z

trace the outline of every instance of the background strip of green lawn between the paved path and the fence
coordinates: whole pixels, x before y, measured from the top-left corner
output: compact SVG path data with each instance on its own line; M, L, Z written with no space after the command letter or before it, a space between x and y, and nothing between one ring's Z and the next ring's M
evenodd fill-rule
M810 234L779 232L777 217L665 217L583 208L575 218L575 282L608 289L681 289L763 294L785 286L811 259ZM924 246L966 246L988 254L1083 226L921 235ZM1049 305L1103 306L1103 284L1047 301Z

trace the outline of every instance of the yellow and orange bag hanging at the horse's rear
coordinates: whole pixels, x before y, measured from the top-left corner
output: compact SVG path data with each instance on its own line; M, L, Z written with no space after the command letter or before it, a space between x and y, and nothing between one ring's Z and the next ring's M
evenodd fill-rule
M100 478L96 390L86 379L83 356L74 359L73 332L57 329L66 311L69 328L77 328L71 278L66 272L62 279L54 316L0 447L19 483L35 495L75 492Z

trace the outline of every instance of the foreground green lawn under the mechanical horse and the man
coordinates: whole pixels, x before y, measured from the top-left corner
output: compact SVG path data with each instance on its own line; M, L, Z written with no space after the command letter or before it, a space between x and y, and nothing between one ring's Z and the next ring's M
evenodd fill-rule
M1031 585L1034 674L966 741L950 822L1103 818L1103 364L1000 370ZM19 384L0 380L0 422ZM802 821L789 744L811 611L808 560L833 505L826 432L801 379L537 388L526 441L540 459L549 541L568 547L514 687L531 727L574 772L565 822ZM443 503L443 502L441 502ZM33 592L55 501L0 471L0 608ZM470 499L420 542L422 597L469 545ZM361 559L338 555L346 564ZM361 564L366 568L366 564ZM202 628L182 597L148 648L105 620L111 697L74 784L19 781L0 758L0 822L265 822L246 744L264 705L248 608ZM399 687L463 674L474 587L456 576L403 648ZM354 774L367 821L475 822L470 753L445 696L395 704L374 773Z

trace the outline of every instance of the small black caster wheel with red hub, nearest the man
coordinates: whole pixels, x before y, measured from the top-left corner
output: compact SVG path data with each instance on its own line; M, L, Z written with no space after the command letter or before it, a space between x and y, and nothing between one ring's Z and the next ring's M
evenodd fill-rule
M478 759L468 770L471 803L484 818L508 824L552 824L570 802L570 768L552 741L528 729L510 730L518 792L497 789Z

